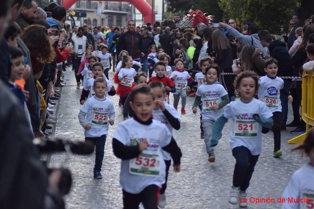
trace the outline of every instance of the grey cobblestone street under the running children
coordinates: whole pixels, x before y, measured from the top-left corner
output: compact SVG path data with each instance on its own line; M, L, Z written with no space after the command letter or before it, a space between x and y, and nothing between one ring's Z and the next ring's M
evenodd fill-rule
M62 97L58 107L58 123L56 136L67 140L84 141L84 129L79 124L78 112L81 89L76 89L74 71L68 68L62 89ZM109 73L112 79L114 73ZM69 80L67 80L69 79ZM113 83L113 82L112 82ZM102 166L103 179L93 178L95 154L82 156L71 154L52 155L51 162L58 163L70 169L73 176L73 186L70 194L65 197L67 208L122 208L122 189L119 188L120 160L112 152L112 136L116 126L123 120L122 107L118 106L118 96L109 96L116 110L116 120L109 127L105 146L105 157ZM170 97L171 104L173 97ZM207 161L204 140L200 139L200 111L192 113L194 97L187 98L187 114L181 116L181 129L173 130L182 151L181 171L174 173L170 169L168 188L166 190L167 206L171 209L201 209L201 208L239 208L228 202L232 174L235 164L229 145L231 120L223 130L223 136L215 148L216 162ZM181 109L181 102L178 110ZM181 115L181 113L180 113ZM292 120L292 108L289 106L287 123ZM283 155L273 158L273 133L263 135L263 150L259 157L251 185L247 193L248 198L275 198L276 203L249 203L248 208L279 208L277 198L281 197L290 176L306 163L306 157L298 151L291 152L293 145L287 140L297 136L290 134L288 128L282 133L281 150Z

